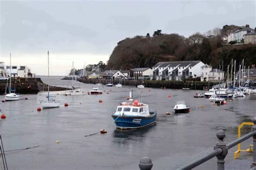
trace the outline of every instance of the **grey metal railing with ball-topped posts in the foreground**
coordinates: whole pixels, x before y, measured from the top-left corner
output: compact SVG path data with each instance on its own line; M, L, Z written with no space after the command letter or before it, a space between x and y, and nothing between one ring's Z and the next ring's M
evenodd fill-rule
M225 138L225 132L223 130L218 130L216 136L219 139L217 144L214 146L214 150L203 157L200 157L184 166L181 166L178 168L178 170L187 170L187 169L192 169L195 168L207 160L210 160L214 157L217 157L217 169L218 170L224 170L225 169L225 157L227 155L228 149L240 144L242 141L245 141L251 137L253 137L253 162L251 164L252 169L256 169L256 117L253 118L253 127L252 131L250 133L245 134L241 138L238 138L228 144L225 144L224 138ZM146 170L146 169L151 169L153 167L152 161L148 157L144 157L140 159L139 162L139 168Z

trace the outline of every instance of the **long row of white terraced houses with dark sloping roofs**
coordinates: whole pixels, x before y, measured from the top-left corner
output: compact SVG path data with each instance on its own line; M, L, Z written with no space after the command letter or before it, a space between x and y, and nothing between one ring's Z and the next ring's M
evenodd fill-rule
M155 80L184 80L201 76L201 61L159 62L153 66Z

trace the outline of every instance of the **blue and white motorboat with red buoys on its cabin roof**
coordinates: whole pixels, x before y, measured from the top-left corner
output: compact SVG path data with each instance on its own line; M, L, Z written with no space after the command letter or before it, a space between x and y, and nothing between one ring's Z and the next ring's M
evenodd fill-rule
M117 128L140 128L156 123L157 112L150 111L147 104L139 103L138 100L132 102L132 99L129 99L117 106L112 118Z

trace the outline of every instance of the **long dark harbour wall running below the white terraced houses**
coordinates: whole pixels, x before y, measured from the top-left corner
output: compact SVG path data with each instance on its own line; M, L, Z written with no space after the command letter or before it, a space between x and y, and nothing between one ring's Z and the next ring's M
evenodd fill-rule
M78 81L82 83L88 83L88 84L107 84L110 83L110 80L105 79L83 79L83 78L77 78ZM113 80L113 84L118 84L119 80ZM141 84L141 80L122 80L122 85L128 85L128 86L137 86ZM145 80L144 85L145 87L155 87L155 88L166 88L166 89L183 89L188 88L190 90L204 90L204 89L211 89L211 87L214 84L214 82L202 82L202 81L171 81L171 80Z

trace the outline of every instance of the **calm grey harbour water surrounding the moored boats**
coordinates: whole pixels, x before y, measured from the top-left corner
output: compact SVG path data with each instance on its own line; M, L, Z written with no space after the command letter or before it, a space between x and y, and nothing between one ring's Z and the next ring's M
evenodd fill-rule
M46 79L42 79L46 81ZM51 85L68 86L69 80L52 77ZM85 92L92 84L74 82ZM133 89L133 98L143 94L143 103L157 110L157 124L139 130L117 130L111 114ZM150 157L153 169L176 169L213 150L216 132L225 130L226 142L237 138L237 127L255 116L256 94L213 106L208 99L193 98L198 92L134 87L100 87L102 95L56 97L68 107L37 112L45 93L22 96L19 101L0 103L6 120L0 120L5 151L31 146L25 151L6 153L9 169L139 169L138 161ZM150 90L150 92L149 92ZM106 92L109 92L107 94ZM52 92L56 93L56 92ZM171 98L168 98L168 95ZM1 96L3 99L3 96ZM28 97L28 100L23 100ZM103 103L98 100L102 99ZM173 114L178 100L191 107L188 114ZM204 105L205 108L200 106ZM166 112L172 112L166 115ZM106 134L84 135L106 128ZM250 129L247 129L248 132ZM56 144L56 140L59 144ZM242 147L247 147L247 140ZM225 161L233 161L237 148L228 151ZM197 169L216 169L212 159ZM0 163L2 168L2 162Z

